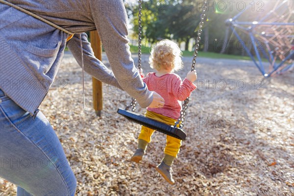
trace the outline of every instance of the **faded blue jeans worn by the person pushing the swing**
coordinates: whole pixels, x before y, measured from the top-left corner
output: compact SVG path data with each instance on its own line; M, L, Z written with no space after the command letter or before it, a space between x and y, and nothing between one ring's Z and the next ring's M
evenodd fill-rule
M76 179L49 121L35 119L0 90L0 176L18 196L74 196Z

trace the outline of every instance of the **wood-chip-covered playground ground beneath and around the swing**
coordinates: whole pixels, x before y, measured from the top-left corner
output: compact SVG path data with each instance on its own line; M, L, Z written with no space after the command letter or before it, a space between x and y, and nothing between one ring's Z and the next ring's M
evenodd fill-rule
M102 57L110 67L104 53ZM151 71L147 57L142 57L146 73ZM182 78L191 58L183 60L188 66L177 72ZM83 110L82 70L70 52L65 53L40 109L63 145L77 179L76 195L294 194L293 71L262 80L251 61L201 57L196 70L198 89L184 126L187 139L173 165L176 183L170 185L153 167L163 157L165 135L156 132L145 159L139 165L130 162L140 125L116 113L129 103L129 96L103 85L99 118L92 106L92 79L85 74ZM14 185L4 179L1 184L1 196L16 193Z

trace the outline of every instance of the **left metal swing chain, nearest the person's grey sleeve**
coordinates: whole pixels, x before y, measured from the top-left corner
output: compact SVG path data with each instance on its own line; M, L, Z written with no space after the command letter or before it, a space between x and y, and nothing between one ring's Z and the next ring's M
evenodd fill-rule
M138 22L139 22L139 38L138 38L138 70L141 70L141 55L142 55L142 0L139 0L139 14L138 14ZM132 98L132 102L125 107L125 110L129 110L132 108L132 111L136 110L137 101L135 98Z

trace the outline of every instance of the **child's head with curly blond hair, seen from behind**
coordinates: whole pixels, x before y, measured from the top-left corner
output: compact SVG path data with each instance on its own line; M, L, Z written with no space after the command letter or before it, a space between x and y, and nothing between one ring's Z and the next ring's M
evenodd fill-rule
M151 50L149 57L150 67L159 71L177 71L183 68L182 52L179 47L171 40L161 40Z

